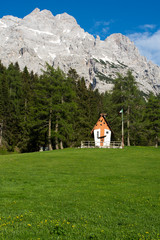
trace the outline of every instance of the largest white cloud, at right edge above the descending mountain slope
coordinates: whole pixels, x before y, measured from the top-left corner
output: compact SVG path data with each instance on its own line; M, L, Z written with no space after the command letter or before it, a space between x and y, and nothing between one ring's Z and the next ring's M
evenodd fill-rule
M160 66L160 30L150 33L134 33L128 37L138 47L140 53L148 60Z

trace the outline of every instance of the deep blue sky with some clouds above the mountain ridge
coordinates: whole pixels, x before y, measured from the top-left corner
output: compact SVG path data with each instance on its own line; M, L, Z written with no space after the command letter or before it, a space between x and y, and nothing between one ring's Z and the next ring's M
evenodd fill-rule
M122 33L135 42L142 55L160 66L159 0L8 0L1 3L0 18L23 18L37 7L53 15L67 12L85 31L99 35L101 40Z

